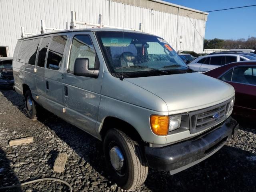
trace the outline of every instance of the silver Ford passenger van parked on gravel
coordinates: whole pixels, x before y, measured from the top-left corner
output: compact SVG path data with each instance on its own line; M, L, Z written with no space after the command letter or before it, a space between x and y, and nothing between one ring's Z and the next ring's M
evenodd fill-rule
M93 28L22 38L13 72L28 117L41 106L102 140L107 170L125 190L142 184L148 167L175 174L201 162L238 130L234 88L194 72L151 34Z

